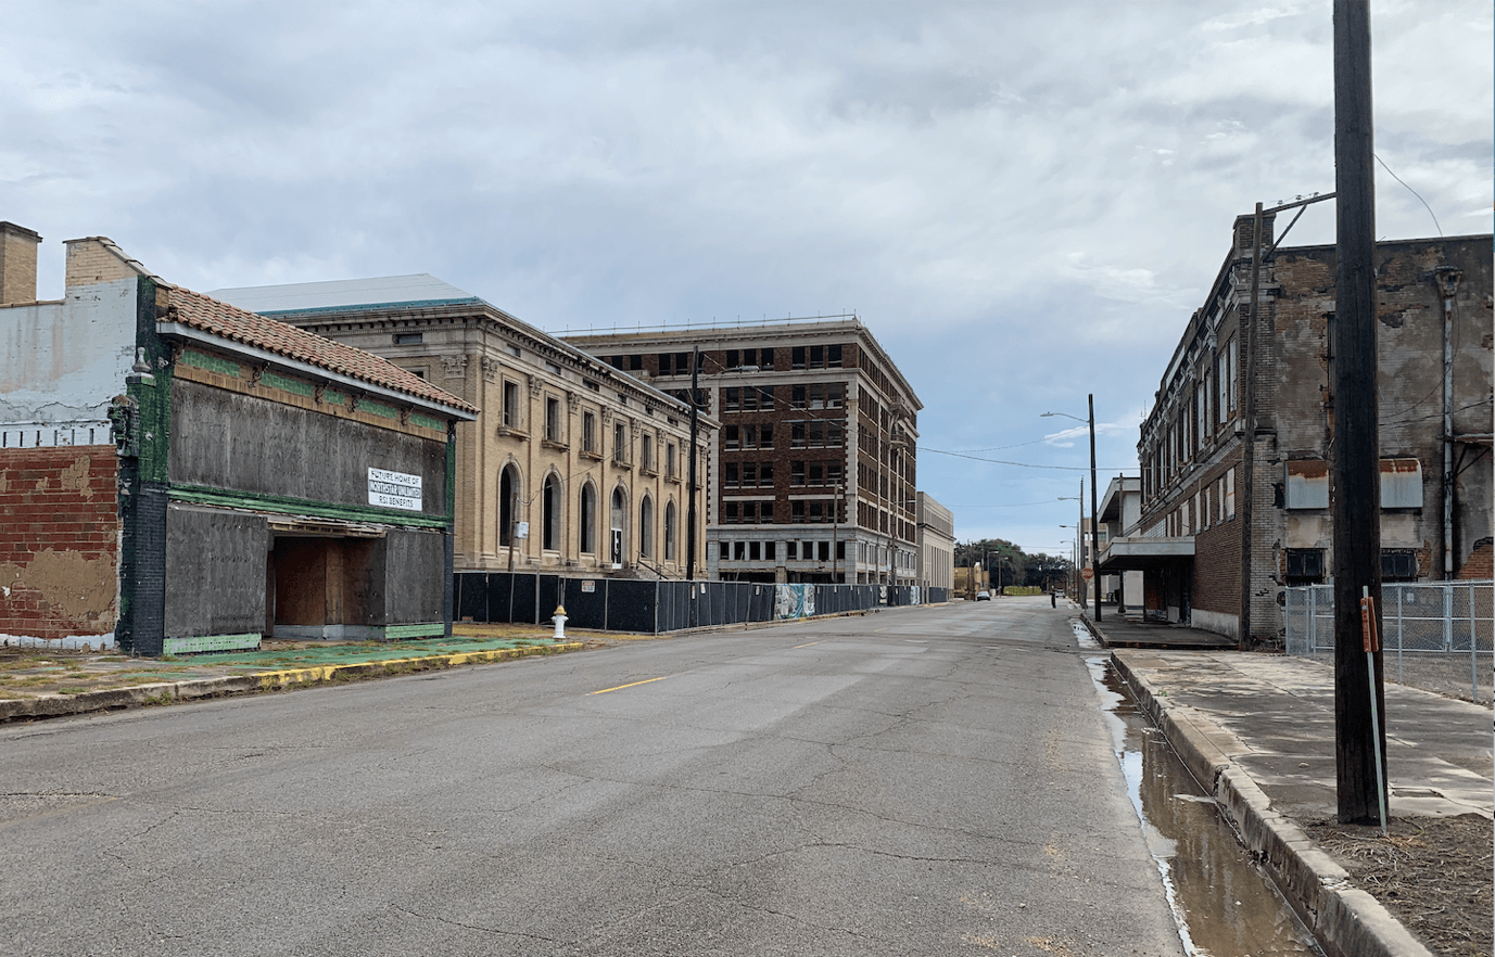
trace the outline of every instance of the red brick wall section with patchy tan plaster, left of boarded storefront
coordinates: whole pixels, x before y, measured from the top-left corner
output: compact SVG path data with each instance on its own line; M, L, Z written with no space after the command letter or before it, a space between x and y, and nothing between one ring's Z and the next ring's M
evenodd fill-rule
M0 640L112 636L117 479L112 445L0 451Z

